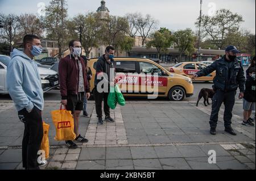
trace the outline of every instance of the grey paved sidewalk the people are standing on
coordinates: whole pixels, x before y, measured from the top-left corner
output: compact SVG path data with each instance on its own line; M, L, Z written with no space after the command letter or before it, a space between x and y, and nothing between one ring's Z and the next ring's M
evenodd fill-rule
M193 102L127 101L112 110L115 123L97 125L94 102L92 117L81 117L80 133L89 139L76 150L55 141L50 111L59 102L47 101L43 119L50 124L48 165L43 169L255 169L255 127L241 125L242 115L233 116L238 133L224 132L220 111L217 135L209 134L210 107ZM22 169L23 124L14 104L0 102L0 169ZM216 164L208 163L208 151L216 151Z

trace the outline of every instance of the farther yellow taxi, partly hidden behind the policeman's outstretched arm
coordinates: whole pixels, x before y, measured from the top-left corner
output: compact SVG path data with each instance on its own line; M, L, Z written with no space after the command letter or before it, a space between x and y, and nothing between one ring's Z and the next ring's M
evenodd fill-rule
M179 64L170 67L169 71L171 73L176 73L192 78L193 75L197 73L197 71L200 71L206 67L207 65L202 64L201 62L180 62ZM193 81L213 81L215 75L216 72L213 71L211 74L203 77L197 77Z

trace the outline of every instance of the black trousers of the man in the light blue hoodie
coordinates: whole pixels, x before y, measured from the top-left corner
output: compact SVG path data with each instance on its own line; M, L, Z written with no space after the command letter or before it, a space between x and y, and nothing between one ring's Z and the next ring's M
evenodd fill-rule
M34 106L30 113L23 109L18 112L18 115L25 125L22 140L23 167L28 170L38 170L38 150L43 139L42 112Z

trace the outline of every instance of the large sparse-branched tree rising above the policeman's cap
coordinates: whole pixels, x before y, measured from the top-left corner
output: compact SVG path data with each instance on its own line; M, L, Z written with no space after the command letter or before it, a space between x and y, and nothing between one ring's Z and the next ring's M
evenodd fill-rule
M197 19L196 27L199 27L200 18ZM201 18L201 36L211 40L212 44L220 49L224 48L225 40L232 31L237 31L243 22L241 15L230 10L220 9L214 16L203 15Z

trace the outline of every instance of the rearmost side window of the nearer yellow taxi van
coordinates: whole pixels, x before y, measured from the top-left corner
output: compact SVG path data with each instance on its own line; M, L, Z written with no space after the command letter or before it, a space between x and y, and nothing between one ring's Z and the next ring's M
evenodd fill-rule
M135 61L116 61L115 72L117 73L136 73Z

